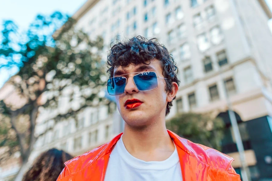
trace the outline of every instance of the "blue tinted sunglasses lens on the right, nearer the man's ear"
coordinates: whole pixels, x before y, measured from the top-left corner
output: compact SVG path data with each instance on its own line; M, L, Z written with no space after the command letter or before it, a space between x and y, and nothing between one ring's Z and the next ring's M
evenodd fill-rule
M140 91L152 90L158 87L158 79L155 72L143 72L133 77Z

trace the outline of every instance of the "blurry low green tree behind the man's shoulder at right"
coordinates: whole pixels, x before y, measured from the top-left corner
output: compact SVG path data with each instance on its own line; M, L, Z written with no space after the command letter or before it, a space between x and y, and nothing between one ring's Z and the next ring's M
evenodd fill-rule
M167 129L195 143L221 150L225 124L208 114L179 113L166 123Z

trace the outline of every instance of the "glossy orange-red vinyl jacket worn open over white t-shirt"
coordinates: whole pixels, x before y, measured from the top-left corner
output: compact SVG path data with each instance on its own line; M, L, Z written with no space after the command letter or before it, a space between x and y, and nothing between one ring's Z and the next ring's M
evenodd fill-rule
M168 130L179 154L183 181L240 181L231 166L233 158L195 144ZM121 137L65 162L57 181L103 181L113 146Z

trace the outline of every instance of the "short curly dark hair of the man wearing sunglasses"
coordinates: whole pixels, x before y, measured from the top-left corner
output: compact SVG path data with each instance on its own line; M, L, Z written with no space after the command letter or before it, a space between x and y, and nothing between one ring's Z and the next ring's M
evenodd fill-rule
M128 41L119 42L112 46L108 53L108 70L110 78L113 77L114 68L117 66L126 67L129 64L150 64L150 61L157 59L160 61L163 75L166 81L165 91L172 90L172 82L180 84L177 78L178 68L173 56L170 55L167 48L160 44L157 38L150 40L137 36ZM175 99L176 97L174 97ZM167 103L166 113L167 116L170 113L170 108L173 106L172 101Z

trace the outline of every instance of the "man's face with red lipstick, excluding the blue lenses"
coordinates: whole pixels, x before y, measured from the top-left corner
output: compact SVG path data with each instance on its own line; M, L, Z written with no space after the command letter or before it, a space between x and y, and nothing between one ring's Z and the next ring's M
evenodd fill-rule
M154 71L157 76L164 77L160 61L155 59L149 65L138 64L128 65L127 67L115 67L113 76L129 74L140 71ZM133 76L136 74L123 75L127 78L125 93L116 95L118 110L131 127L145 127L160 119L165 118L167 106L167 93L165 91L166 82L163 78L158 78L158 87L153 90L139 91L134 84ZM137 99L136 103L129 102ZM134 101L132 101L134 102Z

